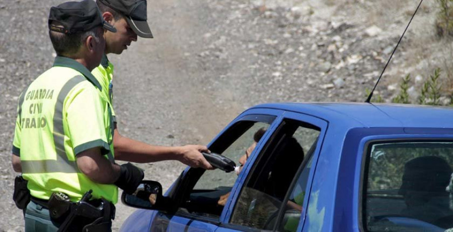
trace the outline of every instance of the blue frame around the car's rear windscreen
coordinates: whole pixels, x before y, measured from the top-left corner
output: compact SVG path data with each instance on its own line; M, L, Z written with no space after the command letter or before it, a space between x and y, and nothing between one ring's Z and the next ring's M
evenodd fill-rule
M378 129L378 128L375 128ZM379 129L378 129L379 130ZM366 129L363 129L366 131ZM369 129L368 129L369 131ZM356 226L359 228L361 232L368 232L369 230L366 229L366 197L364 196L367 188L367 181L368 181L368 167L369 167L369 156L371 152L371 147L374 144L380 143L408 143L408 142L453 142L453 135L452 134L427 134L427 135L408 135L408 134L389 134L389 135L373 135L372 130L368 133L365 133L363 137L360 139L360 143L358 146L358 152L361 153L358 157L361 157L360 160L360 178L357 178L359 181L354 184L354 186L358 186L358 191L354 191L357 193L358 196L354 197L357 200L357 207L355 216Z

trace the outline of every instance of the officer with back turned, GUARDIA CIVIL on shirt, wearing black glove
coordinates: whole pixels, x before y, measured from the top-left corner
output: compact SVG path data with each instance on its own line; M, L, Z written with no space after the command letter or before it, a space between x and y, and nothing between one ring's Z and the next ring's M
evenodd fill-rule
M64 230L111 230L118 187L132 193L143 179L114 163L112 110L90 72L104 55L104 29L116 29L92 0L52 7L48 26L57 57L22 92L13 142L13 168L31 194L25 229L55 231L72 218ZM90 190L94 210L84 214L77 202Z

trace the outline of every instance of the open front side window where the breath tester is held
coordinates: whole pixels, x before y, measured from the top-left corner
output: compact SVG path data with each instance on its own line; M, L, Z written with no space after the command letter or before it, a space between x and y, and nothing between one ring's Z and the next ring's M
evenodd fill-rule
M246 118L231 126L217 138L209 147L211 152L228 157L240 166L240 159L247 159L244 156L252 154L253 148L264 137L275 119L267 115L248 118L250 119ZM227 173L220 169L205 171L200 168L189 171L191 180L178 212L206 220L218 219L238 178L237 173ZM220 199L223 201L219 202Z

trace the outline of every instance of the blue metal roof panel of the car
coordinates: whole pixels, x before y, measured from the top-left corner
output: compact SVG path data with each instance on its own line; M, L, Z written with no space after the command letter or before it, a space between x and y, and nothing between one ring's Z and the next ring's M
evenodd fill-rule
M313 115L349 127L453 128L453 107L359 102L267 103L273 108Z

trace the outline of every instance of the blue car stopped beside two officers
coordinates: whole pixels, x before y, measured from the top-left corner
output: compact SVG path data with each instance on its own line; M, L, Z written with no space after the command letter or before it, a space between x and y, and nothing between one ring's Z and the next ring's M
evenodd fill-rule
M280 103L247 109L208 145L235 171L143 181L122 231L445 231L453 109Z

